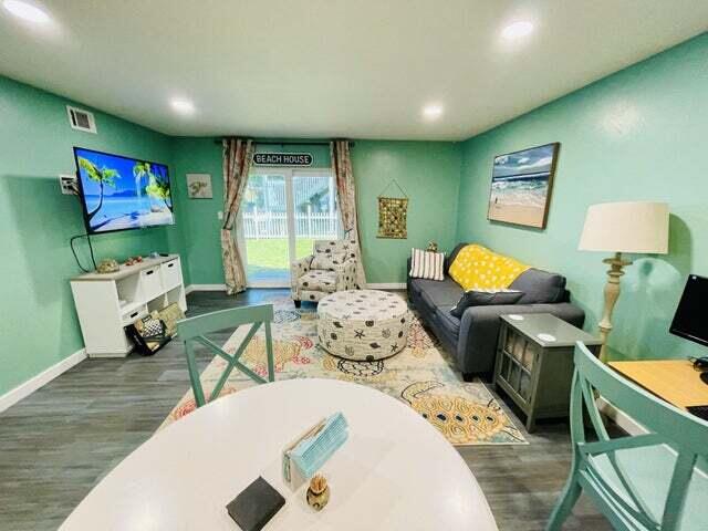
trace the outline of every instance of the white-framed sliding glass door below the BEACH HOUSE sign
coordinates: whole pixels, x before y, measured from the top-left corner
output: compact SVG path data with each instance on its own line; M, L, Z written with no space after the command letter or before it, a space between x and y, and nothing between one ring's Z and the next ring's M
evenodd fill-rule
M290 285L290 263L312 252L315 239L341 235L330 170L257 168L241 204L239 247L248 285Z

